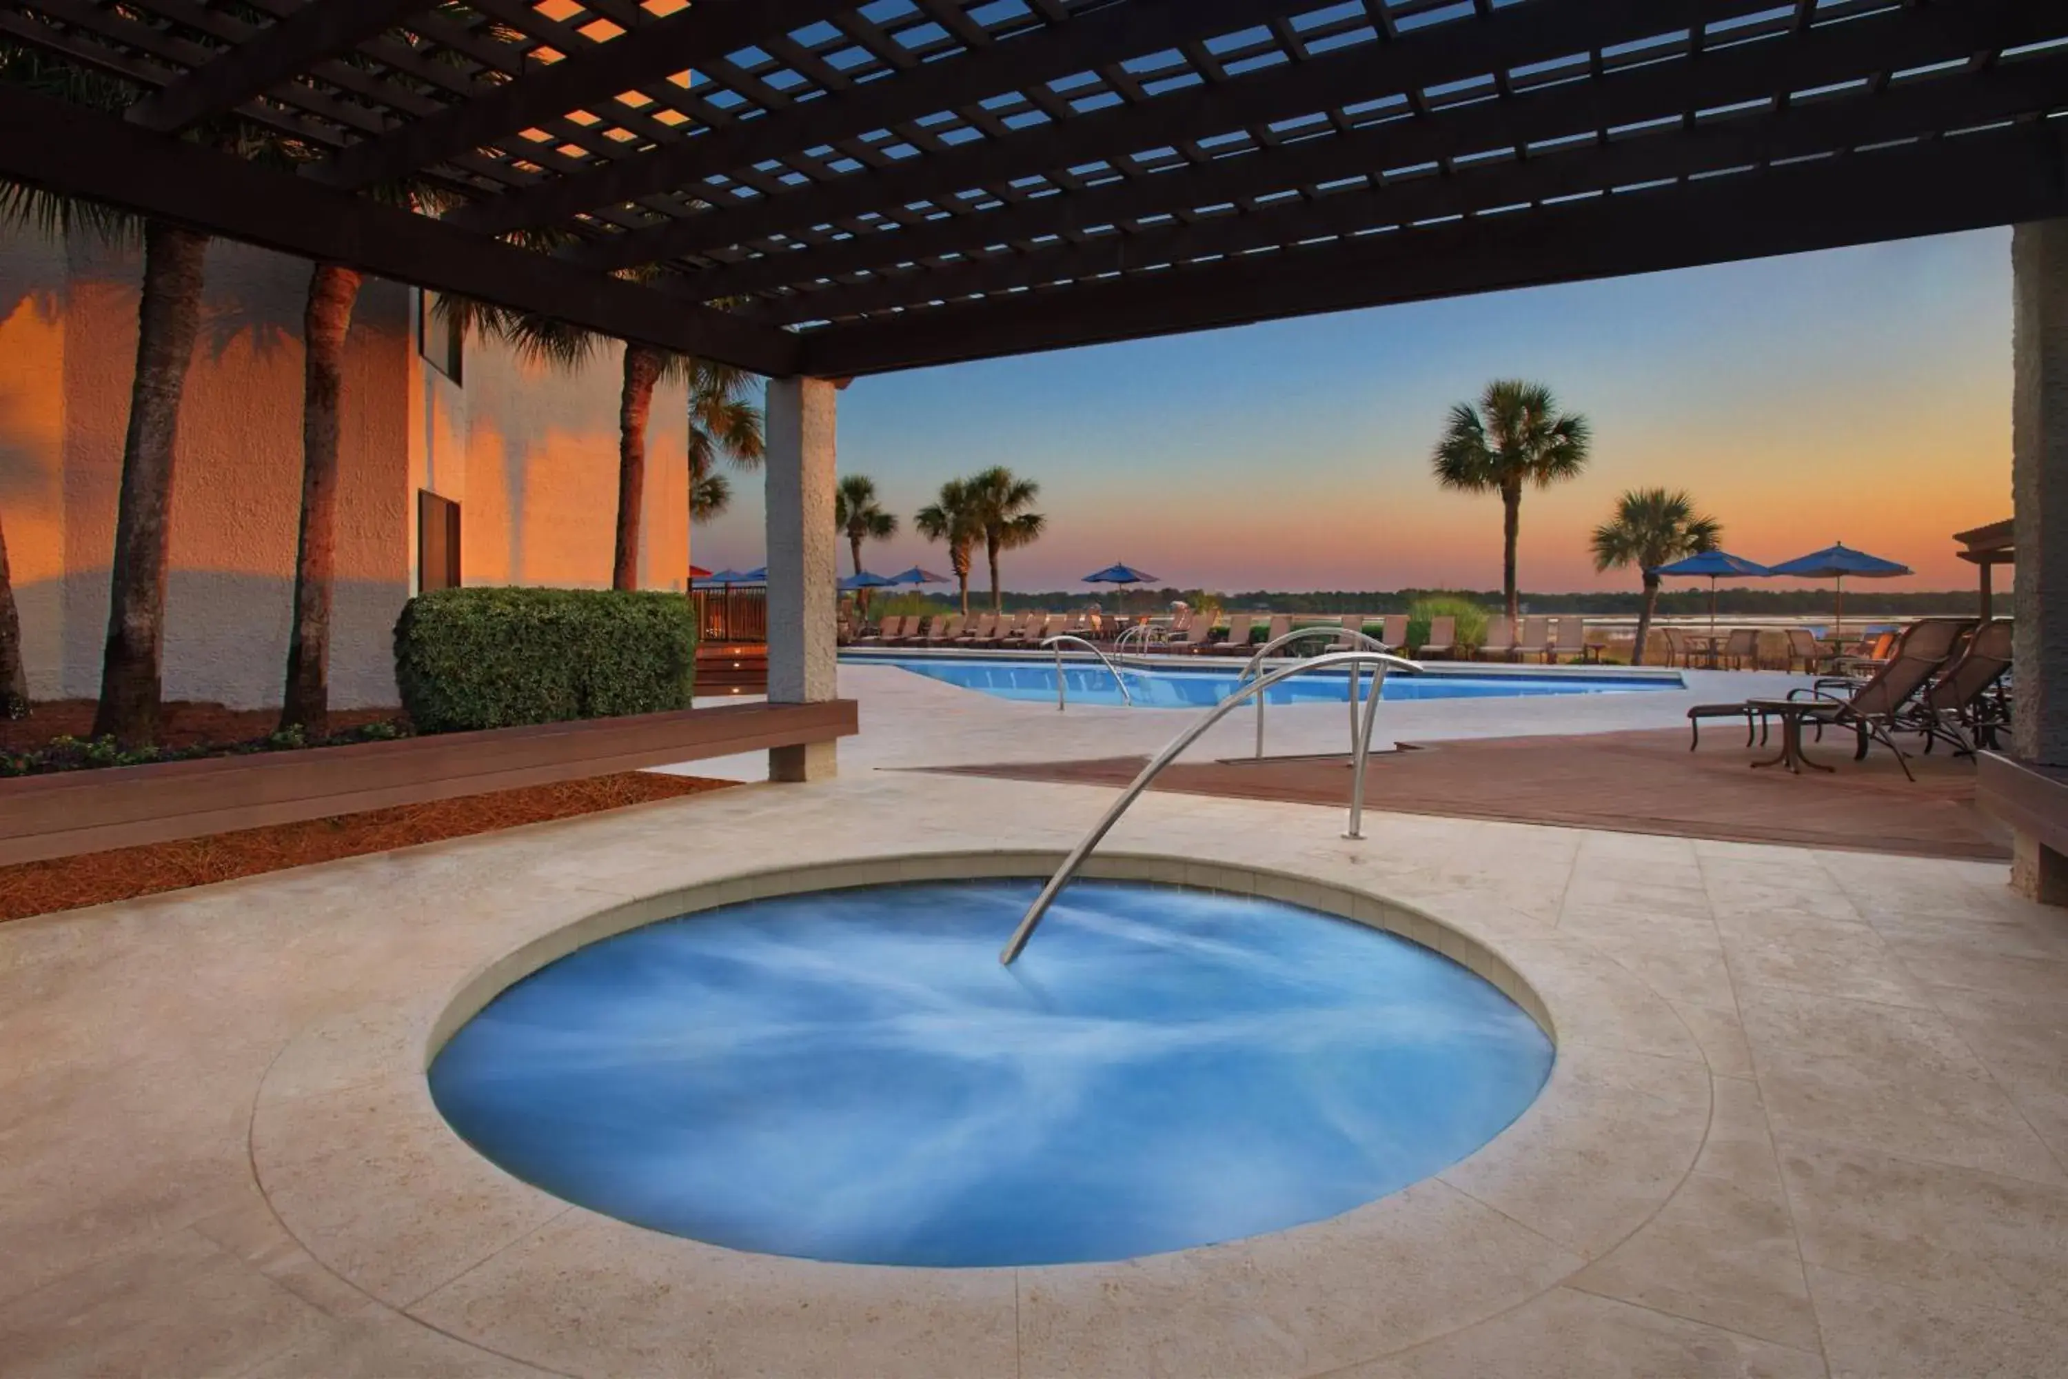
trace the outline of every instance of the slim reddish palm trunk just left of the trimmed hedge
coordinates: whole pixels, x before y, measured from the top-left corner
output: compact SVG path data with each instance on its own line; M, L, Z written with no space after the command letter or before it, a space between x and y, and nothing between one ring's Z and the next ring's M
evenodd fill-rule
M318 263L308 277L302 314L302 525L294 554L294 631L287 633L287 684L281 730L300 724L312 736L331 730L331 579L337 569L337 428L345 387L345 335L360 298L360 275Z

